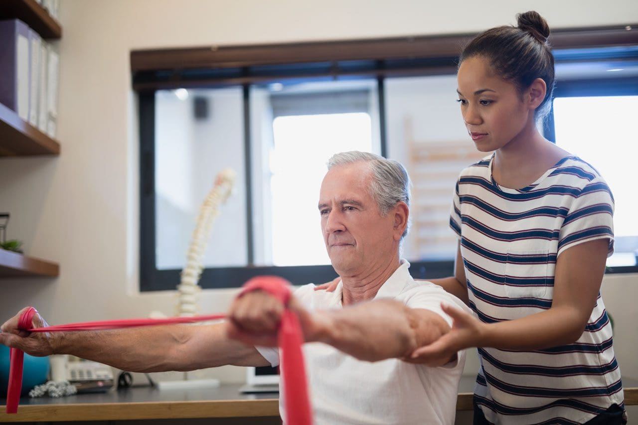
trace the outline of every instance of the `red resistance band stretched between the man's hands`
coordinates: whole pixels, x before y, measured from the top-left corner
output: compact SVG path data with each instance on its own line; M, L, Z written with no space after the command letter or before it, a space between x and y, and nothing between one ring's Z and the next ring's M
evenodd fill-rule
M263 290L287 307L290 301L290 284L278 276L257 276L244 285L241 297L247 292ZM36 309L29 307L22 313L19 320L19 329L29 332L59 332L59 331L101 331L106 329L122 329L126 327L140 327L150 325L168 325L180 323L203 322L205 320L218 320L225 315L204 315L195 317L172 317L165 319L132 319L132 320L106 320L101 322L84 322L68 325L57 325L33 329L33 316ZM286 422L292 425L311 425L312 414L308 399L308 382L306 380L306 367L301 345L304 342L299 318L286 308L279 324L278 345L281 349L281 368L283 369L283 389L286 394ZM22 367L24 352L17 348L11 348L10 352L9 387L6 398L6 412L15 414L18 412L20 392L22 391Z

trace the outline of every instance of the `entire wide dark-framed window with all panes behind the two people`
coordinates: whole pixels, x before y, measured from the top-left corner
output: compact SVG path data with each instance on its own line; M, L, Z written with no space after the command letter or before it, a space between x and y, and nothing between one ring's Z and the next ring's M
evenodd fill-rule
M573 36L559 34L553 45L574 47ZM627 36L614 29L605 43L618 38L626 44ZM200 285L237 287L257 274L295 284L334 278L316 204L326 161L350 150L406 165L412 230L403 257L417 278L449 276L457 243L447 225L454 183L484 155L473 149L454 101L456 49L467 38L193 49L193 64L186 66L177 52L171 70L161 65L171 51L133 57L140 91L142 290L179 283L200 204L226 167L237 173L235 190L212 228ZM618 152L635 144L631 129L621 126L632 123L638 93L604 97L611 73L591 75L591 64L582 63L612 56L638 68L638 47L555 53L559 89L547 137L605 176L616 197L616 255L608 265L611 272L637 271L634 190L618 172L631 167L621 163L631 157ZM625 88L638 87L638 73L625 75ZM584 82L574 83L579 78ZM603 88L587 94L600 81Z

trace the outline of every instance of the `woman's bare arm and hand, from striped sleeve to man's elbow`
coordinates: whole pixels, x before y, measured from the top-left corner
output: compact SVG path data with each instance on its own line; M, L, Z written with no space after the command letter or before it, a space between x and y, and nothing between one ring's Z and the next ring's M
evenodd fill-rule
M413 357L427 359L468 347L540 350L574 343L584 332L596 304L608 245L608 239L597 239L561 253L556 260L552 306L541 313L485 324L457 309L443 308L454 318L452 331L415 350Z

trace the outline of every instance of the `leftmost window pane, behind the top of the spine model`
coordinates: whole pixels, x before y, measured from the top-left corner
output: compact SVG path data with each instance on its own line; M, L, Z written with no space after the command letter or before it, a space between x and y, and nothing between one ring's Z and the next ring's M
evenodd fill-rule
M246 265L242 89L158 91L155 98L156 267L182 269L200 207L224 168L234 191L207 239L204 267Z

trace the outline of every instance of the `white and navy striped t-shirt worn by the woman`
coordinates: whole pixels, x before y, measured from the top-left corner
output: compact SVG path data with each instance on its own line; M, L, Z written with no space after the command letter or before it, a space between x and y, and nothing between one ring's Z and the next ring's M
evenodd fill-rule
M493 156L461 172L450 226L461 237L470 307L486 323L549 309L556 258L568 248L609 239L614 200L598 172L563 158L521 190L492 177ZM499 424L582 424L612 404L624 406L612 331L600 294L575 343L522 352L479 348L475 401Z

